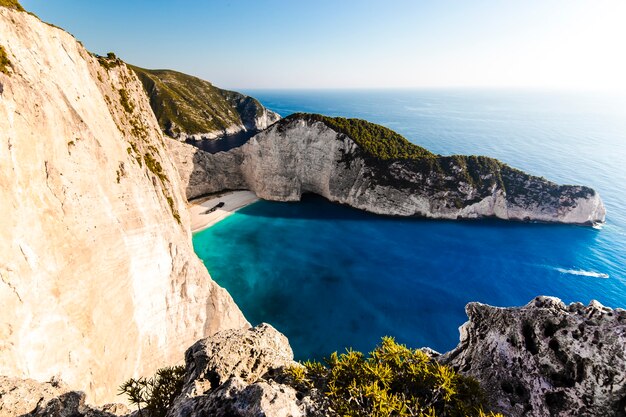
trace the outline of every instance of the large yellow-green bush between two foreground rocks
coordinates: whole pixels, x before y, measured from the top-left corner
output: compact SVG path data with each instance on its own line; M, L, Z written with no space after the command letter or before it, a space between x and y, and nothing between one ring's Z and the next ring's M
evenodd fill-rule
M348 350L326 362L288 367L284 376L301 392L323 393L340 416L497 416L483 411L485 398L475 380L390 337L368 357Z

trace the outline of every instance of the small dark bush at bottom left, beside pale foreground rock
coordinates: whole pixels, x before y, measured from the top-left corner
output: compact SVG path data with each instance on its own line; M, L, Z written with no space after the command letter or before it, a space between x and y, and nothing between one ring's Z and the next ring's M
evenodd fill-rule
M119 391L137 406L140 416L143 416L144 410L150 417L165 417L168 408L183 390L184 378L184 366L161 368L152 378L129 379Z

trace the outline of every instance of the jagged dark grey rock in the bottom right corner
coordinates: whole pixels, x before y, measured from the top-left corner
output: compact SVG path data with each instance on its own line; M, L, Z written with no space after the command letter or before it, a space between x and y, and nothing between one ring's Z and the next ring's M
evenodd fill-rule
M441 359L475 377L507 416L626 415L626 311L537 297L521 308L466 307Z

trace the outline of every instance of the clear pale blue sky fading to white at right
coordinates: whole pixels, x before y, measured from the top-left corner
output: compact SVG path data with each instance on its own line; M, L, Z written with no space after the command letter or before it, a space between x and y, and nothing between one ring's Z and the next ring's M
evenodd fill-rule
M626 91L626 0L22 0L93 52L233 89Z

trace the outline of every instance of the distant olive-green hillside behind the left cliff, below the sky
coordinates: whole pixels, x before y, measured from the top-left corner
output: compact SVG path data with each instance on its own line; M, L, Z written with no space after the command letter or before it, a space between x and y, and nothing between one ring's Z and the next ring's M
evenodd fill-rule
M150 98L161 129L179 140L254 134L280 119L256 99L170 70L131 67Z

